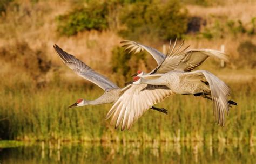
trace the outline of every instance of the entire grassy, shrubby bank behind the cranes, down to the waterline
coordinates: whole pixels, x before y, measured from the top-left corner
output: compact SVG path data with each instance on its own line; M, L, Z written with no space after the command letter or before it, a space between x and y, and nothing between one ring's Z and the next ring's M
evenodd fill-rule
M116 1L107 4L108 8L97 4L90 9L87 1L6 1L1 6L0 17L0 139L118 143L244 142L252 145L256 140L256 14L253 2L227 1L222 4L216 1L212 4L202 1L199 5L196 2L199 1L173 2L167 5L174 5L172 10L161 4L164 1L159 2L158 8L163 8L166 13L177 13L170 19L180 20L178 24L183 26L176 28L161 24L156 28L166 13L151 15L153 9L149 2L144 2L143 8L136 6L142 2ZM59 7L55 8L56 5ZM82 8L76 10L78 6ZM111 10L113 6L118 8ZM128 10L134 8L138 10ZM127 9L127 13L122 13L123 9ZM247 15L244 15L245 9ZM91 10L95 11L91 15L95 18L87 15ZM98 12L106 12L107 17ZM131 17L137 12L140 13L139 19ZM98 22L91 22L91 19L97 19L103 25L96 28L94 25ZM88 27L84 25L86 23ZM144 28L146 23L152 26ZM133 29L130 25L138 25L139 28ZM196 25L196 29L191 28ZM177 31L171 33L175 29ZM231 108L225 126L215 124L212 102L187 95L174 95L157 105L168 109L169 115L148 111L130 131L124 132L115 130L104 119L111 104L68 110L67 107L77 98L94 99L103 91L66 68L52 45L58 44L123 86L137 69L149 71L156 66L147 54L129 56L123 52L119 41L134 38L132 34L142 34L136 35L140 36L136 41L160 51L168 39L175 37L184 38L191 48L220 49L220 45L225 45L225 52L231 59L225 68L220 67L220 61L216 59L207 60L199 68L210 70L232 88L231 99L238 106ZM124 35L127 38L122 38Z

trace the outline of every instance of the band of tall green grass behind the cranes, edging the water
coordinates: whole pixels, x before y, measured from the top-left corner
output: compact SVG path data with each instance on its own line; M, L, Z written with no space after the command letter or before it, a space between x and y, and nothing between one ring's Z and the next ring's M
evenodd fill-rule
M157 105L168 109L169 115L149 110L124 132L105 120L111 104L67 108L77 98L97 98L103 92L99 88L60 81L43 88L28 83L13 88L2 85L0 127L6 139L17 140L253 142L256 86L253 81L230 85L231 99L238 106L230 109L224 127L215 124L211 101L174 95Z

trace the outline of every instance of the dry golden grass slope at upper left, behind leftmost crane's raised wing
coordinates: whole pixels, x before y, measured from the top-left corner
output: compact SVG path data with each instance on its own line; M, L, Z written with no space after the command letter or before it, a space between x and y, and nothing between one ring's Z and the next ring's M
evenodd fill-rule
M63 37L56 32L56 17L72 8L70 1L40 1L36 4L30 1L18 1L18 3L19 10L9 8L5 18L1 20L0 28L3 31L0 32L2 35L0 47L26 42L31 49L43 49L53 64L60 65L62 63L52 48L53 44L58 44L92 68L109 74L111 49L122 40L117 34L112 31L85 31L73 37Z

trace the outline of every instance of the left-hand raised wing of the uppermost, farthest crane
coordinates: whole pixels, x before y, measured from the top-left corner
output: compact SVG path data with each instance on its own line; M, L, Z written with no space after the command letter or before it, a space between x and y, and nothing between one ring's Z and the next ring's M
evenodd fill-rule
M134 54L136 54L140 51L146 50L157 61L158 65L165 59L165 55L163 53L157 51L157 49L154 49L152 47L130 40L124 40L121 41L121 43L124 44L122 47L125 47L125 51L129 51L129 53L134 51Z

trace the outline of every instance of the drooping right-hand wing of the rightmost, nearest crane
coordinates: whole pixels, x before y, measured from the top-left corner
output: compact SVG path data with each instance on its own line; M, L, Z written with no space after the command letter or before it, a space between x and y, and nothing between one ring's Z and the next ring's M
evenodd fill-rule
M228 95L230 95L230 88L221 81L218 77L206 70L196 70L190 73L185 73L184 77L192 76L191 78L204 78L209 83L211 90L211 96L214 104L214 114L218 125L224 126L225 123L225 111L228 113ZM200 77L201 76L201 77ZM188 77L188 79L191 79ZM189 80L194 83L193 80Z

